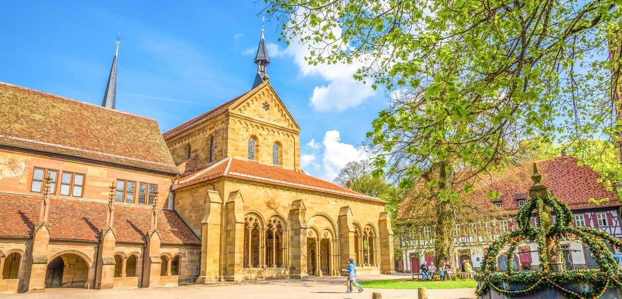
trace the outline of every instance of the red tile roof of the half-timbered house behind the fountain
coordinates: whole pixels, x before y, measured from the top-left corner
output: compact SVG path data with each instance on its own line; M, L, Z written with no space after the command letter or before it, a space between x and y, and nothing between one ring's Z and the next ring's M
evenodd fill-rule
M620 207L620 197L613 191L607 191L602 183L598 183L600 174L593 171L590 166L578 166L578 159L572 156L562 156L551 159L535 161L538 173L542 175L542 184L549 188L551 194L566 202L570 209L596 209L599 207ZM534 182L531 180L533 174L533 163L524 163L512 166L502 173L490 173L480 175L475 189L466 197L471 202L490 203L493 202L488 197L488 191L494 190L501 192L500 201L503 202L503 209L506 211L518 211L517 199L529 199L529 187ZM608 202L603 202L596 206L588 202L591 198L608 198ZM400 205L399 218L409 217L409 199Z

